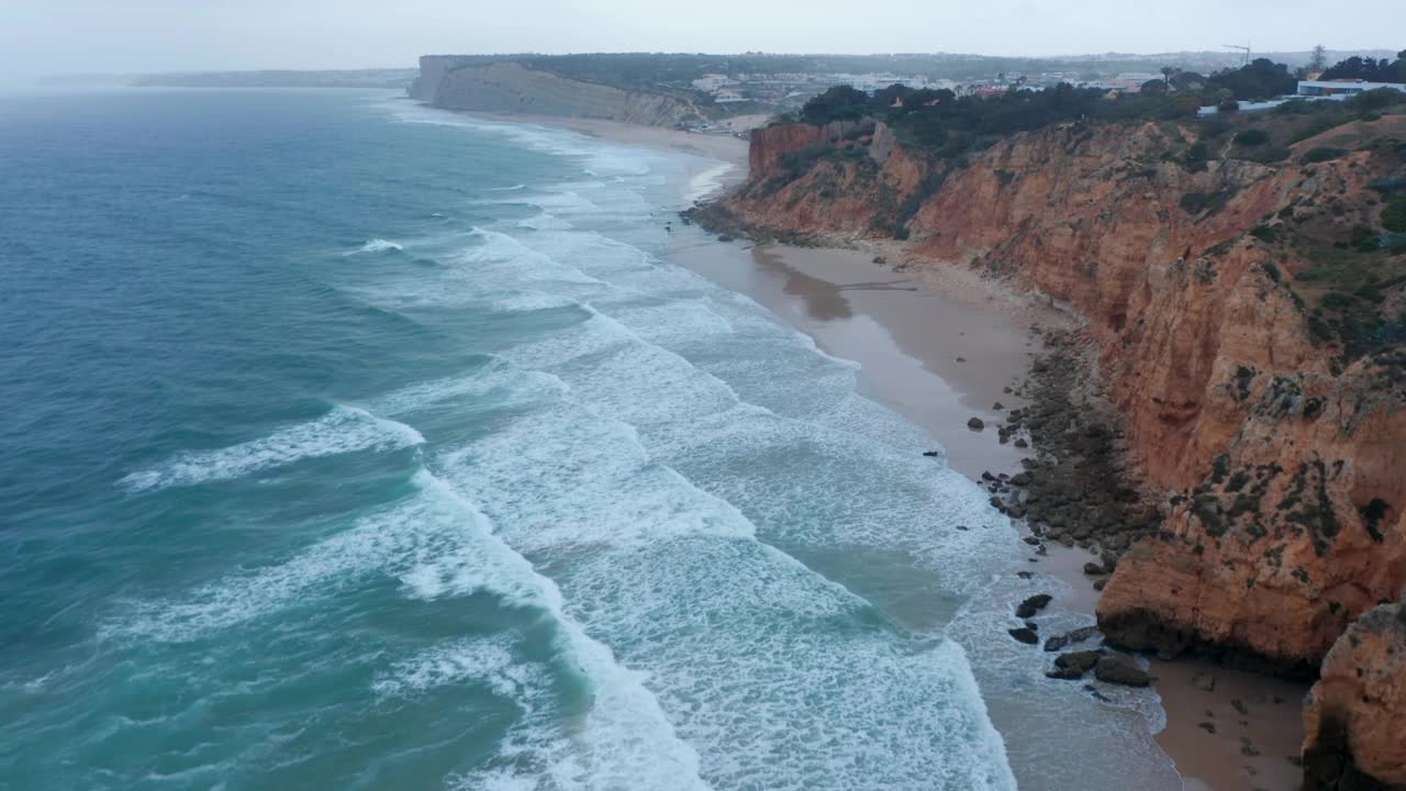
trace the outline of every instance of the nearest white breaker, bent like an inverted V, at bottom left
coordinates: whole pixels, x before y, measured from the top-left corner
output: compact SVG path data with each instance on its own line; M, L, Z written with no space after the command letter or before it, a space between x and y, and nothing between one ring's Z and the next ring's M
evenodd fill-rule
M337 595L373 576L399 577L412 600L485 591L555 624L562 663L581 674L591 698L571 721L543 708L541 698L555 694L553 681L538 667L515 662L506 633L451 640L391 664L371 683L381 695L415 697L477 681L522 707L524 716L501 753L520 760L461 777L465 787L494 780L561 791L707 790L697 752L678 739L644 676L617 664L565 615L555 584L499 540L472 502L427 472L415 483L418 493L408 500L283 563L232 574L179 600L134 602L124 618L104 625L104 636L191 640Z

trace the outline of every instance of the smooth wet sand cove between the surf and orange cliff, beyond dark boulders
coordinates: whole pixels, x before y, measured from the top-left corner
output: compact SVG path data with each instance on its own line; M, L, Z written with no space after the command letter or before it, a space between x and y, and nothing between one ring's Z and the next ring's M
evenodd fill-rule
M827 353L858 362L860 393L927 428L957 472L1017 467L1024 452L1000 445L994 424L1004 408L1025 404L1005 390L1029 366L1029 328L995 307L932 293L872 258L782 245L748 256L720 256L711 245L675 252L678 263L766 305ZM988 428L967 428L973 417Z

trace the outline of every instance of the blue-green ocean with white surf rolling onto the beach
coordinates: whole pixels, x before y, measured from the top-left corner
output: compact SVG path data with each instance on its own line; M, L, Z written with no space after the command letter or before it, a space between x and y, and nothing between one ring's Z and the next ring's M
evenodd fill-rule
M1180 787L1152 692L1004 633L983 490L669 260L717 172L385 91L0 97L0 788Z

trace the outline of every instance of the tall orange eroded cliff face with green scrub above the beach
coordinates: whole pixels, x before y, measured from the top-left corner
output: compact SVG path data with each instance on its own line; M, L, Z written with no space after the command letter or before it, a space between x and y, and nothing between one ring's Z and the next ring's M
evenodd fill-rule
M1372 134L1406 139L1406 118L1388 121L1400 128ZM1368 182L1400 162L1364 149L1188 167L1168 152L1192 135L1070 124L963 163L915 155L882 125L839 142L775 127L754 135L730 208L773 231L907 236L1087 318L1132 452L1171 495L1102 595L1105 633L1310 676L1354 618L1406 587L1406 355L1344 366L1310 334L1299 291L1315 286L1298 276L1313 262L1275 239L1346 239L1371 220Z

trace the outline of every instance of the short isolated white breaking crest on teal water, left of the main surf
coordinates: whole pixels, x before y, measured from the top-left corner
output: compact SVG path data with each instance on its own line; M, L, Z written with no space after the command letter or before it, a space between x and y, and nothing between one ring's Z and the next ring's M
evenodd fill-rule
M339 404L315 421L295 424L263 439L219 450L179 453L160 466L131 473L118 483L135 491L197 486L238 479L305 459L357 450L395 450L423 442L425 438L405 424Z

